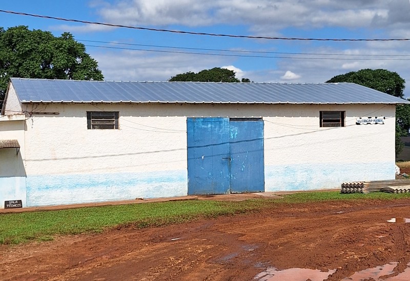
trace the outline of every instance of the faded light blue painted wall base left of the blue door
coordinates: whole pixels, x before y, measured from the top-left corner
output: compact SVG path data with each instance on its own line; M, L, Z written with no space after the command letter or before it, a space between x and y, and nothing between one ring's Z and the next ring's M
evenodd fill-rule
M27 176L27 206L185 196L187 171Z

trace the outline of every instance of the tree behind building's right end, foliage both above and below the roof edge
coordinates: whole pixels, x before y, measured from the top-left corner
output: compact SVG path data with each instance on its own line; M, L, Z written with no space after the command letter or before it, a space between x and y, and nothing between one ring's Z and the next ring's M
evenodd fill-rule
M362 69L333 77L326 83L350 82L403 98L405 81L399 74L385 69ZM396 156L403 150L400 137L410 129L410 106L396 106Z

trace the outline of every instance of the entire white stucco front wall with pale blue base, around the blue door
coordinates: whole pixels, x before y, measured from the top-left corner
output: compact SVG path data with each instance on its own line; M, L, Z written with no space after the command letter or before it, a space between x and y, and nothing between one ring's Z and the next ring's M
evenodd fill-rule
M96 107L34 105L60 114L27 121L28 206L187 195L187 116L263 117L265 191L337 188L395 175L394 105ZM99 109L119 111L120 129L88 130L86 112ZM320 110L346 111L346 127L320 128ZM355 125L361 116L386 120Z

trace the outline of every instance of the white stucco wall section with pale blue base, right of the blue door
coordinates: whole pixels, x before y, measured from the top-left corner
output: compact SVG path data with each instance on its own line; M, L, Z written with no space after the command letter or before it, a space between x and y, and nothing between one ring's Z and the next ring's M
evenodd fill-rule
M346 127L319 128L320 110L345 110ZM265 191L395 178L395 106L311 105L275 115L264 118ZM356 125L362 116L385 116L385 124Z

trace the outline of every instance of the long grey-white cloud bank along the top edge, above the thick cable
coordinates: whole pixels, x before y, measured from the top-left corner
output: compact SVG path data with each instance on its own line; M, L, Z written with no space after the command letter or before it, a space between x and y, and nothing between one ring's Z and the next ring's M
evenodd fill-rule
M104 2L98 13L108 22L127 25L245 24L251 30L408 26L410 5L402 1L215 0L203 4L196 0L120 0L109 6Z

